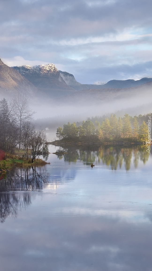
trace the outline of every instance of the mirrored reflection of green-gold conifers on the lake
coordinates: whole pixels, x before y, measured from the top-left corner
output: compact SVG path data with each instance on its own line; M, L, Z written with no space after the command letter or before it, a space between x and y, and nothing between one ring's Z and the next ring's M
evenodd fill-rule
M146 151L146 146L133 147L100 147L97 150L78 150L66 149L67 154L64 155L64 160L67 162L83 161L85 164L102 161L111 169L116 170L117 167L122 167L123 163L126 170L130 170L132 158L134 167L138 167L139 160L145 164L149 158L149 153Z

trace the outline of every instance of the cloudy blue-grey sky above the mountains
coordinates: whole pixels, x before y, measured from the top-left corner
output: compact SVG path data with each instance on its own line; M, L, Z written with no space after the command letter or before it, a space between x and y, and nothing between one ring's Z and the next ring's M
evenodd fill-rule
M0 0L0 57L80 83L152 77L151 0Z

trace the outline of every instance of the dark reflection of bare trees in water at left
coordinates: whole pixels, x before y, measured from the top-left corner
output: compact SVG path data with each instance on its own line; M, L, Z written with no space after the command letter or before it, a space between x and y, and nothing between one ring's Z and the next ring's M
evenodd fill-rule
M28 191L41 190L47 182L44 168L40 169L39 173L34 167L9 171L6 179L0 182L0 222L3 223L8 216L17 217L18 208L31 204Z

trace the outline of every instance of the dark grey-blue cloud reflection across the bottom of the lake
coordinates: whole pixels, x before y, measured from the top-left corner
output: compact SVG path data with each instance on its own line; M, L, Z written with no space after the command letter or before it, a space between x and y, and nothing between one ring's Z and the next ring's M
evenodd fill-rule
M137 228L133 223L107 217L46 217L41 208L39 214L33 215L30 226L28 216L27 224L20 221L23 233L16 236L15 255L19 258L15 270L19 271L24 261L23 271L40 271L42 266L46 271L50 266L52 270L62 267L64 271L151 270L151 225L139 224ZM27 227L34 229L31 235L27 235ZM8 255L12 250L9 244L7 239ZM2 258L3 266L11 270L9 262Z

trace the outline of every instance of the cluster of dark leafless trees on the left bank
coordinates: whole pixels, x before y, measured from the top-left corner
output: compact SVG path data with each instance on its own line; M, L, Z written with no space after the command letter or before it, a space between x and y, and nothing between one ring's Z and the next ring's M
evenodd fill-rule
M35 129L31 122L35 112L29 108L24 95L16 95L12 101L0 101L0 149L13 153L16 148L31 150L32 162L42 152L48 150L43 130Z

